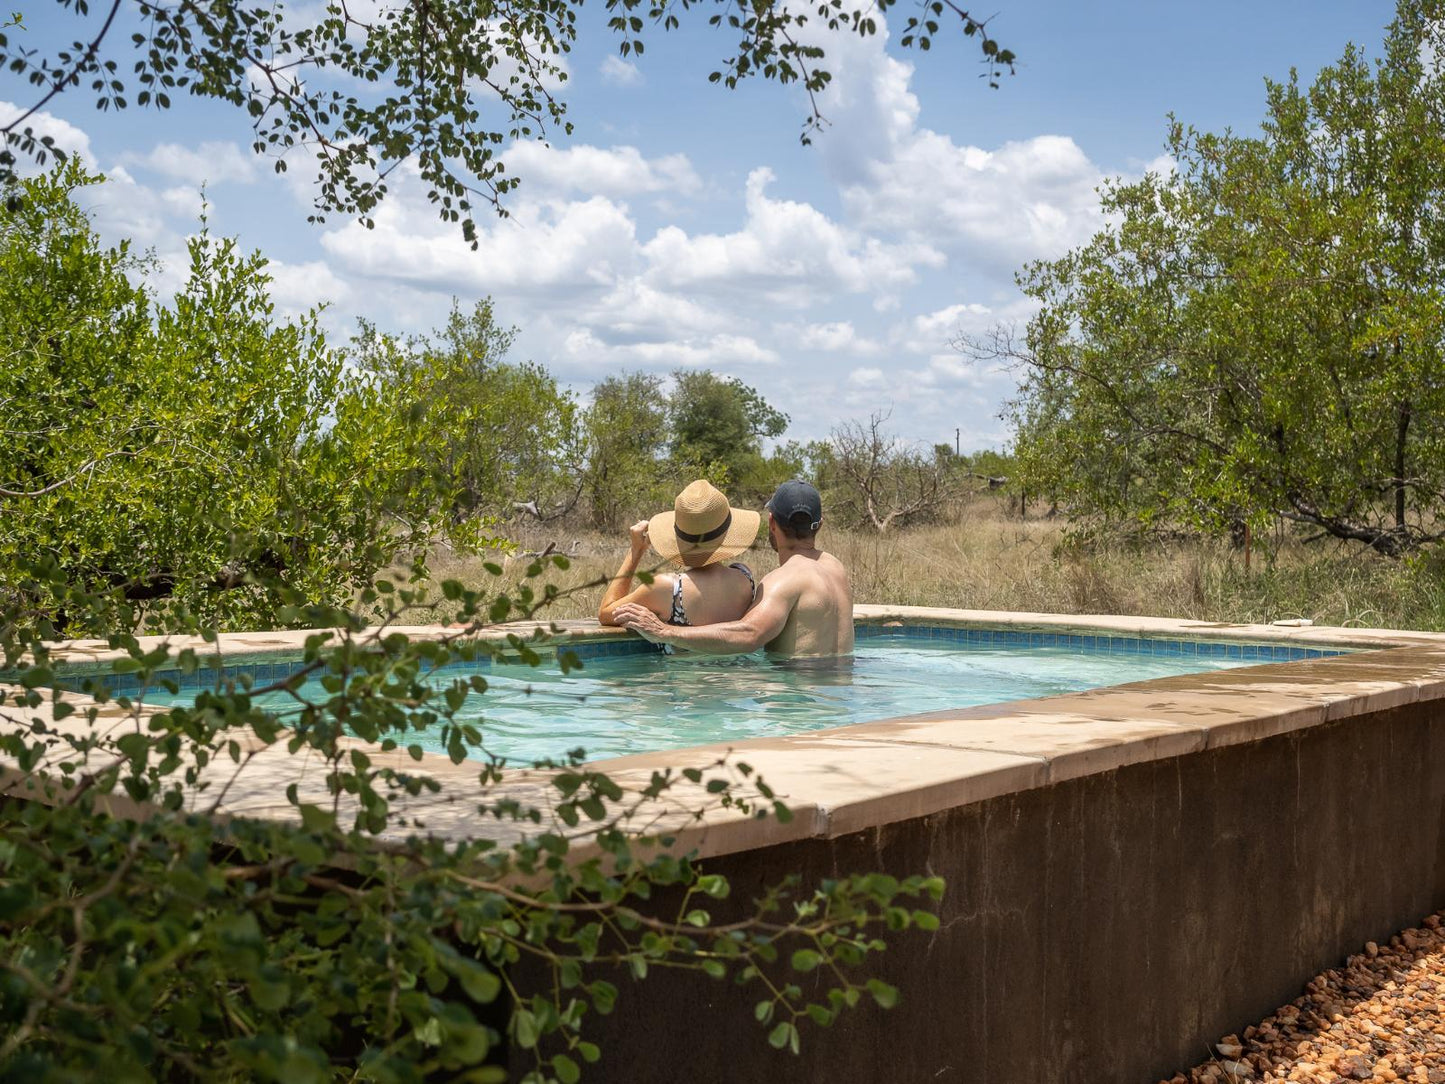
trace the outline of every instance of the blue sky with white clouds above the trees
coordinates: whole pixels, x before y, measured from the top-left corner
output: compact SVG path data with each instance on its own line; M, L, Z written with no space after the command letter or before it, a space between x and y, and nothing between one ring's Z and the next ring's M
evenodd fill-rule
M1014 273L1100 228L1101 182L1169 168L1169 114L1250 133L1266 77L1308 79L1347 42L1377 53L1393 4L994 1L990 30L1019 56L997 90L946 22L928 53L900 49L907 6L874 38L821 39L829 124L811 146L798 139L802 91L707 81L731 42L705 6L629 59L603 9L584 7L559 91L574 133L506 149L522 185L510 217L478 218L475 251L415 176L373 230L308 224L308 171L275 173L223 103L113 114L69 91L36 127L107 175L85 192L97 228L155 251L160 295L184 276L204 186L212 233L270 259L277 314L324 305L337 343L358 317L426 332L454 298L490 296L519 328L512 357L582 399L623 370L707 367L762 390L789 415L789 439L881 412L902 441L997 448L1016 374L951 341L1027 321ZM4 10L29 27L9 33L33 42L88 27L55 0ZM0 121L32 103L0 74Z

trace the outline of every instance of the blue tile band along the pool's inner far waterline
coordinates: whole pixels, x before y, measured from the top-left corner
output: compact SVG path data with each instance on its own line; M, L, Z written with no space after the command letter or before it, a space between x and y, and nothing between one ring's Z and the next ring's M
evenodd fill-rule
M1293 643L1241 643L1238 640L1170 640L1142 636L1110 636L1105 633L1064 633L1023 629L980 629L935 624L858 624L858 640L919 640L932 645L951 645L962 649L1053 649L1079 655L1159 655L1169 658L1234 659L1240 662L1298 662L1300 659L1322 659L1345 655L1345 650L1331 648L1308 648ZM660 648L642 639L608 639L582 643L548 645L548 652L571 652L584 665L590 659L616 659L656 655ZM506 659L503 659L504 662ZM493 659L483 656L471 662L452 662L438 666L434 674L477 674L491 669ZM173 681L182 689L218 689L224 682L250 685L272 685L305 669L301 659L272 662L241 662L218 671L214 661L207 661L195 674L165 671L152 679L152 687L162 681ZM6 675L0 675L3 681ZM100 681L113 697L140 691L140 681L131 674L85 674L75 675L64 688L85 691L87 681Z

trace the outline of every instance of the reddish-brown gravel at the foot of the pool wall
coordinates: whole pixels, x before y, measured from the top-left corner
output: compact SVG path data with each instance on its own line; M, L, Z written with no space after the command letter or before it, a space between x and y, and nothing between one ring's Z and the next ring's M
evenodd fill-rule
M1445 1084L1442 916L1387 945L1370 941L1243 1036L1225 1035L1214 1058L1160 1084L1246 1080Z

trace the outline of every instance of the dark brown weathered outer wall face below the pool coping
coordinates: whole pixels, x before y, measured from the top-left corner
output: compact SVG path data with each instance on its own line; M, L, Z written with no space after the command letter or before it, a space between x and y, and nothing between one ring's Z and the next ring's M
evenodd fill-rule
M1442 713L1416 702L715 859L741 899L799 870L938 873L942 928L880 958L896 1009L806 1029L801 1057L767 1045L756 989L621 981L588 1080L1166 1077L1445 905Z

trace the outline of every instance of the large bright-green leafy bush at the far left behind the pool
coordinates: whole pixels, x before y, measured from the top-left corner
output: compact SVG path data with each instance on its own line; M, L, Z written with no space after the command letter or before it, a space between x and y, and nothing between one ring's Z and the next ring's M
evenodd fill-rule
M77 205L97 179L72 162L0 208L0 591L43 558L150 627L256 627L425 548L449 483L405 402L348 374L314 315L277 321L266 262L231 241L192 240L186 285L153 305Z

